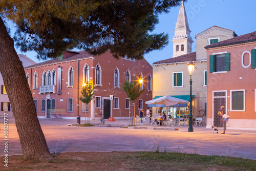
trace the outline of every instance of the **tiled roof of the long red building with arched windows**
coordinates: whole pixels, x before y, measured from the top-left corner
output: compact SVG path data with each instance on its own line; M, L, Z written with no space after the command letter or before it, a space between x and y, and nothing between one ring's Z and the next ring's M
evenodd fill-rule
M68 52L71 52L71 51L68 51ZM72 52L75 52L75 51L72 51ZM65 61L70 61L70 60L77 60L77 59L82 59L82 58L93 57L93 55L89 54L86 51L79 51L79 52L75 52L75 53L78 53L78 54L74 55L74 56L71 56L71 57L67 57L67 58L62 59L62 60L58 60L58 58L50 59L50 60L47 60L47 61L44 61L44 62L37 63L37 64L32 65L32 66L25 67L24 69L34 68L34 67L39 67L39 66L44 66L44 65L51 65L51 64L54 64L54 63L60 63L60 62L65 62Z

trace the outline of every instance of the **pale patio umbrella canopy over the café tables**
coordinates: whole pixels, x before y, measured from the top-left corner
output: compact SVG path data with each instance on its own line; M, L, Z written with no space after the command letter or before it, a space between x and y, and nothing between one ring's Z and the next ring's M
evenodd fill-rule
M146 104L165 104L165 106L172 106L175 104L186 104L187 100L182 100L176 97L171 96L162 96L153 100L149 100L145 102Z

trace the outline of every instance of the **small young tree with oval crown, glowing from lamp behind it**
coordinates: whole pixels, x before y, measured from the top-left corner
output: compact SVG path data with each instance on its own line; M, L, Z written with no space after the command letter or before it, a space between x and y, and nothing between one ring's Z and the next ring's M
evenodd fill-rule
M92 83L90 83L89 81L82 87L81 90L81 96L80 96L80 100L83 103L86 103L86 108L89 107L89 103L90 101L94 98L94 94L95 92L93 91L93 86ZM87 123L89 122L89 115L88 115L88 120Z

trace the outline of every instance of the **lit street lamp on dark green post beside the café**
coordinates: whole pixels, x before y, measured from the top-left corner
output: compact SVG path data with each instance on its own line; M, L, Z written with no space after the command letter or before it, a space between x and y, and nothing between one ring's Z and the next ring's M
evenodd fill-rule
M188 132L193 132L193 116L192 116L192 73L194 72L195 65L193 62L188 63L188 72L190 74L190 103L189 103L189 115L188 115Z

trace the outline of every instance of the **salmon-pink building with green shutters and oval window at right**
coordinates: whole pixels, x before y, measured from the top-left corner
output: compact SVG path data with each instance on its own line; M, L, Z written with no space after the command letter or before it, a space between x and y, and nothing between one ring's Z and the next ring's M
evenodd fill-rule
M230 129L256 130L256 32L205 47L207 50L207 127L222 127L221 106Z

